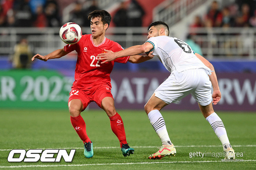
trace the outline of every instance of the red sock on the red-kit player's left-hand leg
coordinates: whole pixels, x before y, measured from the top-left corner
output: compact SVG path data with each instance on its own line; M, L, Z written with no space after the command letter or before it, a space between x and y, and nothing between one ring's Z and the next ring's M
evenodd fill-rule
M72 126L75 128L76 133L81 138L81 140L84 143L91 142L91 140L89 139L89 137L86 134L86 126L85 126L85 122L84 122L84 119L82 118L82 116L81 115L79 115L77 117L70 116L70 121L71 121Z

